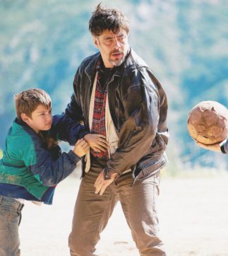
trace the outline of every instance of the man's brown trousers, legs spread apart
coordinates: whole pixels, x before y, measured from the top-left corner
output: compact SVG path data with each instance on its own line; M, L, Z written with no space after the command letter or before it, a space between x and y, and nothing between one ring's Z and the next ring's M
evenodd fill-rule
M92 158L90 171L81 181L69 235L71 256L96 255L95 245L118 201L121 202L140 255L166 255L162 240L158 237L156 201L160 174L136 181L131 186L132 173L126 173L109 185L100 196L95 194L94 183L105 163L104 160Z

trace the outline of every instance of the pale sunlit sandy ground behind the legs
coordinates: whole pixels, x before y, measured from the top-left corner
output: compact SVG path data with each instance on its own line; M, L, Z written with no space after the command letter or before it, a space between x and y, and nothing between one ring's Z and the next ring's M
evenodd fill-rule
M53 206L27 202L20 226L22 256L66 256L80 180L56 188ZM162 178L160 231L171 256L228 255L228 175ZM117 204L97 245L100 256L139 255Z

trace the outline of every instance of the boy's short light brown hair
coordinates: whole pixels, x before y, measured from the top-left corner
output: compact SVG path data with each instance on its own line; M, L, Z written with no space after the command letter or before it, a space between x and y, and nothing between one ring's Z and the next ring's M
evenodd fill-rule
M52 100L46 91L39 88L32 88L26 91L22 91L14 95L16 114L19 120L21 120L21 114L25 113L28 117L32 117L32 112L38 107L38 105L44 105L45 107L52 107Z

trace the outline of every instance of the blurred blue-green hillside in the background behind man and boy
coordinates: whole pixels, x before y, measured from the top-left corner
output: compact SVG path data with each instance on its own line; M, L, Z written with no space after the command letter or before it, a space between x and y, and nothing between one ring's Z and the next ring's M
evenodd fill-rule
M77 66L95 52L88 20L100 1L0 1L0 148L15 116L13 94L44 88L64 111ZM198 148L188 111L202 100L228 106L228 1L102 1L131 22L129 42L152 67L169 99L169 169L228 170L227 156Z

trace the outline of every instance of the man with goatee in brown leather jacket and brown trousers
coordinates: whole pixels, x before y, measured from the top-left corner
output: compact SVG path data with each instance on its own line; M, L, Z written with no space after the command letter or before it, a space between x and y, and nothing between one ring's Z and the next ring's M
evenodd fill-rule
M109 148L103 137L100 146L88 143L92 150L83 160L69 236L71 256L95 255L118 200L140 255L166 255L158 236L156 201L160 169L167 163L167 97L129 47L123 13L99 4L89 28L99 52L80 64L66 115L83 120L91 133L103 134Z

